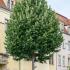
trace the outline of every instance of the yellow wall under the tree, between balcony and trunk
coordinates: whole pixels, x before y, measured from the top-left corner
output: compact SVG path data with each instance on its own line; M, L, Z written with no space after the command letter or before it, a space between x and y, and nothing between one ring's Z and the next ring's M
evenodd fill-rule
M19 61L14 61L12 57L8 59L7 68L9 70L19 70ZM21 70L31 70L31 62L30 61L20 61Z

